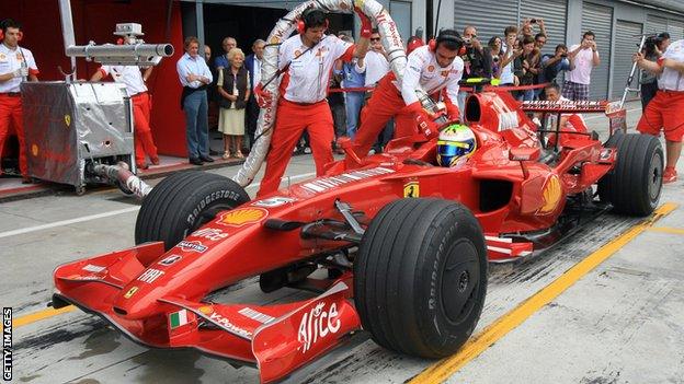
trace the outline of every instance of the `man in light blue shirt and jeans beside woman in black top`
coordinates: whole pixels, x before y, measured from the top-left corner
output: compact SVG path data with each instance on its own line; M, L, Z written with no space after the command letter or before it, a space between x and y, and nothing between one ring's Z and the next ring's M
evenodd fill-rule
M209 156L207 84L214 80L209 67L200 54L200 40L185 38L185 55L175 65L183 85L181 108L185 112L185 138L190 163L202 165L214 162Z

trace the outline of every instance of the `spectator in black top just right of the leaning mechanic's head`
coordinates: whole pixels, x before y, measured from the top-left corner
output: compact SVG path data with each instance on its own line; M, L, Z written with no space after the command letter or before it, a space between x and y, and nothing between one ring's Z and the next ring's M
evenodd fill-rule
M464 60L463 79L492 78L492 56L489 47L482 47L482 43L477 38L477 30L472 25L467 25L463 34L464 48L459 53ZM458 92L458 109L465 110L466 96L468 92Z

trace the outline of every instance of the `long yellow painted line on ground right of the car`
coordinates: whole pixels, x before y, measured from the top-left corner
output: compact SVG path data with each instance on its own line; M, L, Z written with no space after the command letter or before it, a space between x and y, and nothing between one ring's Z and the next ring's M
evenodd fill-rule
M665 214L672 212L677 208L677 205L666 202L656 210L656 212L643 222L630 228L627 232L623 233L619 237L613 240L608 244L601 247L598 251L589 255L585 259L568 269L558 279L546 286L544 289L528 298L526 301L511 310L505 315L499 317L494 323L487 326L480 334L470 338L460 351L451 358L440 360L433 365L426 368L423 372L413 377L409 383L442 383L447 380L452 374L466 365L470 360L478 357L494 342L505 336L509 331L516 328L523 322L525 322L535 312L547 305L551 300L556 299L565 290L574 284L584 275L590 272L601 263L605 261L608 257L619 251L623 246L629 243L632 238L646 231L649 226Z

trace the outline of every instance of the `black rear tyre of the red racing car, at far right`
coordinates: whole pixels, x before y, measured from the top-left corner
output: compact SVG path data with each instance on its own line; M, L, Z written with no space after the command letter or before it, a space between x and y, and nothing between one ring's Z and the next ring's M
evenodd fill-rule
M605 147L617 149L617 160L613 171L598 181L601 201L612 203L616 213L651 214L662 190L663 150L658 138L618 132Z

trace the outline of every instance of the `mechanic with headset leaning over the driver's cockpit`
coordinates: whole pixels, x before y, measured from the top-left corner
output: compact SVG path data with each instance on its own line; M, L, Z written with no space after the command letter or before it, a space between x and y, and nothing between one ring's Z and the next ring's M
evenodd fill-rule
M395 138L412 136L418 126L432 125L435 116L423 109L415 93L418 89L435 100L442 98L448 119L458 119L458 107L452 101L456 101L458 95L458 81L464 70L464 62L458 56L461 47L463 40L456 31L443 30L435 40L411 51L401 84L394 72L379 81L362 112L361 127L354 137L354 152L360 158L368 153L378 133L392 117L396 121Z

